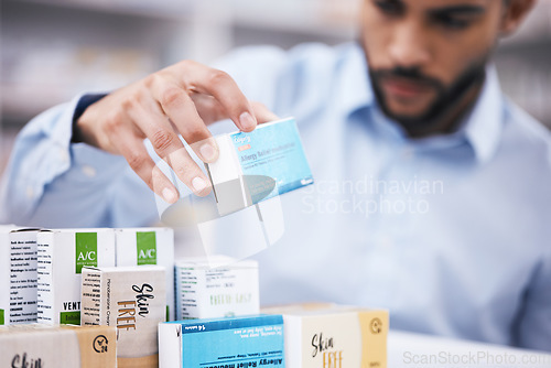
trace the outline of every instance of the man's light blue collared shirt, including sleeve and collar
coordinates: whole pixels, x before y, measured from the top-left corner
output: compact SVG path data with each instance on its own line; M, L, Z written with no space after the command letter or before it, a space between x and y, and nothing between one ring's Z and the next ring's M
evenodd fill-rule
M461 129L425 139L381 113L355 44L249 47L220 67L296 118L315 178L281 196L284 236L255 257L263 304L380 306L393 328L551 351L551 139L506 100L493 67ZM123 159L69 143L77 100L20 134L0 221L155 221Z

